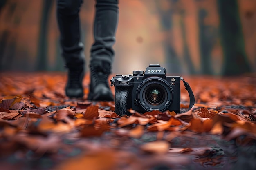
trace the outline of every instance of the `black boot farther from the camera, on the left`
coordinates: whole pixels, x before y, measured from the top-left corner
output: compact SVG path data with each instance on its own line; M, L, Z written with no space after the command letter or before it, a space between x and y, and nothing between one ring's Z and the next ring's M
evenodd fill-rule
M67 97L83 97L83 68L69 68L65 93Z

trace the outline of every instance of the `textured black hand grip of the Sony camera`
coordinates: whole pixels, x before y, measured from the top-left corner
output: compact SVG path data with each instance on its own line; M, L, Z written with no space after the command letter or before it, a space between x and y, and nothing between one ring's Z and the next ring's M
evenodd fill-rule
M122 116L128 113L132 107L132 87L116 86L115 87L115 113Z

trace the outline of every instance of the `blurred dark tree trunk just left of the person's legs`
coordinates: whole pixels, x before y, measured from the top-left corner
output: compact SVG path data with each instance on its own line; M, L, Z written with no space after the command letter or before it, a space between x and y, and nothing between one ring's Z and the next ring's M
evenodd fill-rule
M47 70L47 35L48 35L48 25L49 16L52 9L53 0L43 0L42 16L40 21L40 31L38 40L38 52L37 52L37 63L36 70L42 71Z

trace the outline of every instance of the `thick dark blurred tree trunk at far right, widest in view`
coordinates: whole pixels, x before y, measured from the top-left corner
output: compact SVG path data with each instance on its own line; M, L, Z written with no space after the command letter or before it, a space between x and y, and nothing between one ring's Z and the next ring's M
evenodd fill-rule
M218 0L218 12L224 53L223 75L238 75L251 71L245 53L237 0Z

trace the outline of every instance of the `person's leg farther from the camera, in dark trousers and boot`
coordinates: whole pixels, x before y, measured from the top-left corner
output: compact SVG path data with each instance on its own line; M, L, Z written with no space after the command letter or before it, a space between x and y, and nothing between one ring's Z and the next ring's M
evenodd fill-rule
M57 20L62 56L68 69L65 93L68 97L83 97L85 56L80 41L79 10L83 0L57 0Z

